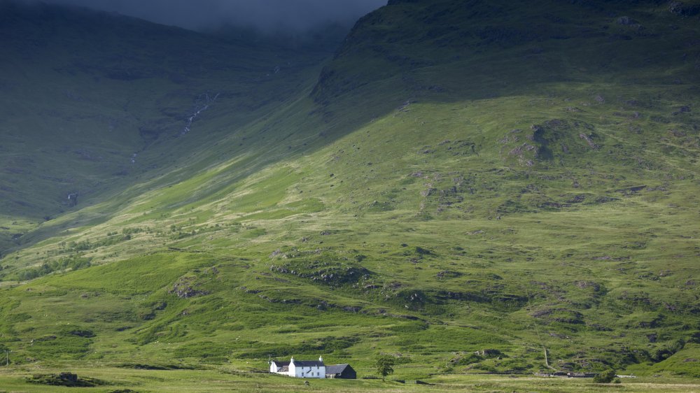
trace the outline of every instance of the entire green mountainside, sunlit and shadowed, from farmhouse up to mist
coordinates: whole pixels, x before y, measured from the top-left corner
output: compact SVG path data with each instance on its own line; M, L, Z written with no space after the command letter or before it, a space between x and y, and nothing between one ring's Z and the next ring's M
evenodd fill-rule
M17 366L700 375L700 3L389 1L335 55L2 15Z

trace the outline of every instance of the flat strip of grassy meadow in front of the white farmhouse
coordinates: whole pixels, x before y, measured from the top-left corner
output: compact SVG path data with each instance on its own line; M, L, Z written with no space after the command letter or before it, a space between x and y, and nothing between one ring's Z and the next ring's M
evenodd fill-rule
M126 370L117 368L71 369L78 378L102 383L97 387L59 387L29 383L38 374L58 369L0 371L0 392L700 392L689 378L643 377L619 384L595 384L589 378L538 378L533 376L445 375L421 380L308 380L241 373L225 368L208 370Z

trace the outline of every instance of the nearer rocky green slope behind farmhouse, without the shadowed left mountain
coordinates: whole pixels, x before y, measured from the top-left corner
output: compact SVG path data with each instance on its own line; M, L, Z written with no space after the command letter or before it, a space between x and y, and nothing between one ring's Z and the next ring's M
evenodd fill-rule
M545 369L547 348L556 369L695 375L697 17L426 4L363 18L313 92L3 259L9 286L104 264L6 290L15 361L323 353L367 375L386 352L423 378Z

